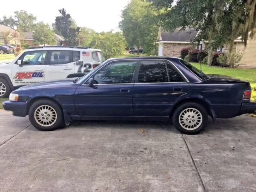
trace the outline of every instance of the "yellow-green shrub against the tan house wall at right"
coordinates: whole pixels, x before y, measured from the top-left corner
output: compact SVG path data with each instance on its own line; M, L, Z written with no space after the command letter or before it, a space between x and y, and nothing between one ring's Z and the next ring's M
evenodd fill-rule
M243 57L242 54L233 52L230 61L228 61L229 56L230 56L230 53L225 53L225 54L221 53L221 54L219 54L217 60L218 60L218 62L220 63L221 66L230 67L230 68L237 67L239 65L239 62L241 61L241 59Z

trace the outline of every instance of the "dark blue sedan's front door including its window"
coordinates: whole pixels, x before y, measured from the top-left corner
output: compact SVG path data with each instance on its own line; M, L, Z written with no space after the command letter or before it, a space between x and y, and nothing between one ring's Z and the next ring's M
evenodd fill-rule
M76 89L75 105L82 116L133 116L132 92L138 60L114 61Z

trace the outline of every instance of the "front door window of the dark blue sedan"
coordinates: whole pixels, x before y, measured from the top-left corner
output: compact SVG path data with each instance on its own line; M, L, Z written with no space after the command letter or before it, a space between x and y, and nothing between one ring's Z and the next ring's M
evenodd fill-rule
M94 76L94 84L132 83L136 61L109 64Z

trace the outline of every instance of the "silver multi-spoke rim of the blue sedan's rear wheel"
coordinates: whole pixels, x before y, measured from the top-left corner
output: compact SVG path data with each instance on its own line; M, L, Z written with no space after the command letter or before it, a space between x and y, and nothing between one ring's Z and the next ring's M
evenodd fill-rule
M180 126L186 130L195 130L203 122L203 116L196 108L186 108L179 115Z

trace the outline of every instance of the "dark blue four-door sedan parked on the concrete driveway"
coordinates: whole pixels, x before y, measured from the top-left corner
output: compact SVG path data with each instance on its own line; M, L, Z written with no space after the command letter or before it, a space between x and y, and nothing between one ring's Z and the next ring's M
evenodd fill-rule
M171 118L180 132L196 134L208 116L216 122L254 112L250 97L250 83L206 75L180 58L135 57L109 59L75 80L24 86L3 106L43 131L72 120Z

